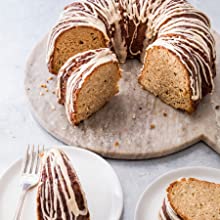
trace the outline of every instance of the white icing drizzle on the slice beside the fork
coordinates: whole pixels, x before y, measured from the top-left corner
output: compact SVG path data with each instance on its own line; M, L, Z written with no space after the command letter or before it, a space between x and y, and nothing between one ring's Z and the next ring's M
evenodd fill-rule
M50 162L50 166L48 160ZM73 180L70 179L69 177L67 166L64 161L73 170L70 160L61 150L51 149L44 153L42 159L42 165L43 165L42 170L46 171L47 179L46 180L41 179L41 182L39 183L40 205L41 205L40 211L42 212L44 220L56 220L59 217L56 211L58 207L58 203L61 210L61 219L63 220L67 220L67 219L77 220L78 216L86 216L88 214L87 202L82 189L81 189L81 194L83 196L85 208L84 210L80 210L78 207L78 204L76 202L75 192L73 191L71 185ZM74 170L73 172L75 173ZM52 176L53 181L49 181L48 178L49 175ZM80 186L77 177L74 179L74 181L77 181ZM60 184L62 190L58 188L59 186L58 184ZM52 193L53 193L53 200L52 200ZM65 200L68 213L64 211L64 203L62 198L64 198Z

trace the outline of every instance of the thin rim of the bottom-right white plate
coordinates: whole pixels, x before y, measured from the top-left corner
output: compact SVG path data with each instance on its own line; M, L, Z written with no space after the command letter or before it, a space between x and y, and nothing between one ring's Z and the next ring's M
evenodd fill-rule
M141 205L141 201L143 200L146 192L149 190L150 187L152 187L156 182L158 182L160 179L164 178L167 175L170 175L172 173L178 173L178 172L185 171L185 170L193 170L193 169L212 170L212 171L217 171L220 173L220 169L215 168L215 167L208 167L208 166L186 166L186 167L181 167L181 168L172 169L170 171L167 171L166 173L164 173L164 174L160 175L159 177L157 177L156 179L152 180L146 186L145 190L140 194L140 196L138 197L138 201L136 203L136 207L135 207L134 220L137 220L137 213L138 213L139 207Z

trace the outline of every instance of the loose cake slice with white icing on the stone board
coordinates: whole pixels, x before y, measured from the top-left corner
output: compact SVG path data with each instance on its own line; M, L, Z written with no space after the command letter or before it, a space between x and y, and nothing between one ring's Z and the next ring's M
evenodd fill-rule
M70 123L78 125L116 93L121 78L116 56L108 48L71 57L58 74L58 102L65 105Z

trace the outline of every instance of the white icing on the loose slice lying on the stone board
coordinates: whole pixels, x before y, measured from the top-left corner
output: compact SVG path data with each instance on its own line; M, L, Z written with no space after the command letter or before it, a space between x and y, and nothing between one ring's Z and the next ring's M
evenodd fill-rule
M69 71L71 71L71 68L76 62L82 62L83 64L71 72L71 75L67 80L65 94L66 115L70 123L73 123L71 116L72 113L75 112L75 101L77 98L75 97L75 91L82 88L85 79L91 75L97 67L108 62L118 61L109 48L90 50L71 57L61 68L58 74L57 94L59 99L62 98L63 78Z

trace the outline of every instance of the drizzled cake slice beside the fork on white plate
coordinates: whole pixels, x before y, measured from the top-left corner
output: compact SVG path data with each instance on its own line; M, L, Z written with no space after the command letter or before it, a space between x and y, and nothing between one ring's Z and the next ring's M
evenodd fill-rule
M45 152L37 194L38 220L89 220L85 194L67 155Z

